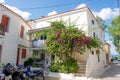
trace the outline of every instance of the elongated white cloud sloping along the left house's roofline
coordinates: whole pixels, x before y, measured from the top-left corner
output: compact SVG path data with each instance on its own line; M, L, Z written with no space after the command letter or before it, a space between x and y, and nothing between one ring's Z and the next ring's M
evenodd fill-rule
M28 19L31 15L29 12L21 11L14 6L9 6L9 5L5 5L5 6L11 9L12 11L14 11L15 13L19 14L20 16L22 16L24 19Z

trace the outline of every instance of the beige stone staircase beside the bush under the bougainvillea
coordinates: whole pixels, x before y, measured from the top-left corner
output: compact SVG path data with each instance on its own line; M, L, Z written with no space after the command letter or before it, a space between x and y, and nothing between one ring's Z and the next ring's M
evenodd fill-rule
M86 62L80 59L77 59L78 72L75 73L75 76L86 76Z

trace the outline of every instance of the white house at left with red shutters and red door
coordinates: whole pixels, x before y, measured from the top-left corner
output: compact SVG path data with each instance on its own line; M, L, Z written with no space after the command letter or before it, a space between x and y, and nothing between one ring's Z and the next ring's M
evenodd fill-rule
M21 16L0 4L0 62L18 65L30 57L30 29Z

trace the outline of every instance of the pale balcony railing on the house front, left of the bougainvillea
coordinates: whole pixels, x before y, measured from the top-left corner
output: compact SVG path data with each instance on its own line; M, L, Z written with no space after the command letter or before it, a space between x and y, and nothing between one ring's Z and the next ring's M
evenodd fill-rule
M45 40L32 41L32 48L45 49Z

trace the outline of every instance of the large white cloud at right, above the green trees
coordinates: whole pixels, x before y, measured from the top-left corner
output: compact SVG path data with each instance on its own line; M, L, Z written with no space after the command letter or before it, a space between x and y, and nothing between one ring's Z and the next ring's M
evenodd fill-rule
M99 12L93 11L93 14L101 17L103 20L108 20L118 16L118 8L103 8Z

